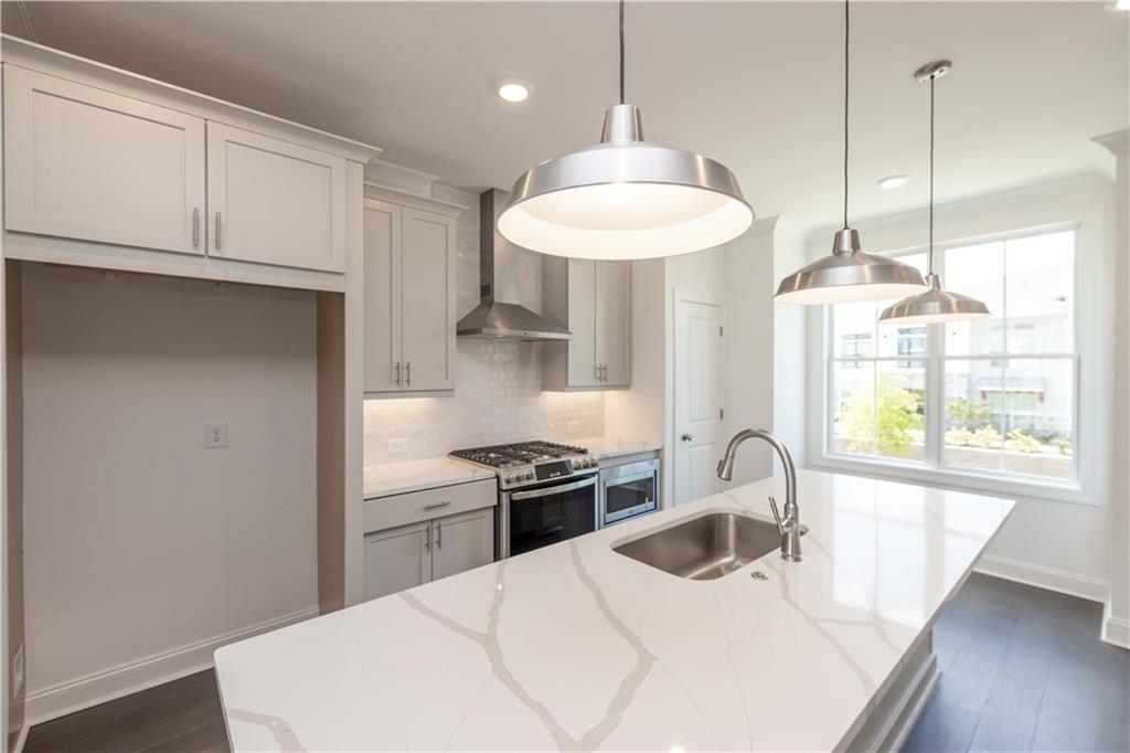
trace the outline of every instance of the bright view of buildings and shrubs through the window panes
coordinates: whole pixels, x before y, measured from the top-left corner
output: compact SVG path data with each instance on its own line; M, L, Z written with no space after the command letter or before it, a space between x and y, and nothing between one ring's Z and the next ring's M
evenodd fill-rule
M946 287L989 319L879 326L890 301L829 306L827 451L1074 481L1075 243L1066 230L939 249ZM924 254L899 259L925 271ZM864 340L873 352L854 347Z

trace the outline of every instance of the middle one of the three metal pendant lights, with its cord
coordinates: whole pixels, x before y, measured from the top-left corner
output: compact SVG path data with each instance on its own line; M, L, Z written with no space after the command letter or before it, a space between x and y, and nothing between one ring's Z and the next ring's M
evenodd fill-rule
M774 298L781 303L820 305L883 301L920 293L925 283L919 270L901 261L864 253L859 233L847 226L847 114L851 9L844 2L844 226L832 241L832 256L781 280Z

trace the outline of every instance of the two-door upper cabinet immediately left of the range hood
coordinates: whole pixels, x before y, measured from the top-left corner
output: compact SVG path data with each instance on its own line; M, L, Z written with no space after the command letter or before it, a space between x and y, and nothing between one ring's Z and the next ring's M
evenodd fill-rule
M460 208L435 204L442 211L365 200L366 392L455 387Z

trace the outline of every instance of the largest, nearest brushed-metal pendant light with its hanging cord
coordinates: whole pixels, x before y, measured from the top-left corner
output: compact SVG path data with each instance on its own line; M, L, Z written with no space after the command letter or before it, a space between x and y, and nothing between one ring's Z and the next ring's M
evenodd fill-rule
M605 113L600 144L530 168L511 190L498 232L520 246L577 259L646 259L709 249L741 235L754 210L738 179L702 155L643 140L640 110Z

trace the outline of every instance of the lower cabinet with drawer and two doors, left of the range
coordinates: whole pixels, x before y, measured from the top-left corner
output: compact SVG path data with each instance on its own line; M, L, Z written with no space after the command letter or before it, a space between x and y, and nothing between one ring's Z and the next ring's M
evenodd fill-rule
M496 488L490 479L367 500L365 598L494 562Z

